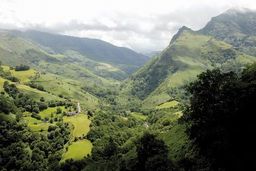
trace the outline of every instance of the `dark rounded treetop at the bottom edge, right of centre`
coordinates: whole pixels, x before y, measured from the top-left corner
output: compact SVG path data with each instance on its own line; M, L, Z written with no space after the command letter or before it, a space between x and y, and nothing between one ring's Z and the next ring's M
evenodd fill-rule
M168 148L155 135L145 133L137 144L138 169L140 171L171 170L168 160Z

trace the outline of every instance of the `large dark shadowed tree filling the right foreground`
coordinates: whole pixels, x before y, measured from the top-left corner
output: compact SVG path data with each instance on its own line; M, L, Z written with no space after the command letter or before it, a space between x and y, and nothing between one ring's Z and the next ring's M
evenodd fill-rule
M256 170L256 67L239 77L206 71L188 87L184 112L189 138L213 170Z

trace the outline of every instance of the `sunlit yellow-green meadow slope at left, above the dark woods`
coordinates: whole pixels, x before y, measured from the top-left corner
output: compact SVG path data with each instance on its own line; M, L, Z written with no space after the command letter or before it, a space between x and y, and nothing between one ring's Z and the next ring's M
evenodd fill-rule
M13 82L11 77L17 78L18 82ZM83 90L84 83L82 81L56 74L42 73L34 69L15 71L9 66L0 65L0 91L3 91L5 81L15 83L22 93L36 101L42 97L47 101L72 99L80 101L85 110L96 109L100 102L100 99ZM38 89L32 84L40 85L42 89Z

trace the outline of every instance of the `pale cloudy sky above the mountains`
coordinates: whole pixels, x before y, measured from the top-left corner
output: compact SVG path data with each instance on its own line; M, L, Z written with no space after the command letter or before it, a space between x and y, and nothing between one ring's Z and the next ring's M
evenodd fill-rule
M0 28L98 38L138 52L165 48L179 27L203 27L255 0L0 0Z

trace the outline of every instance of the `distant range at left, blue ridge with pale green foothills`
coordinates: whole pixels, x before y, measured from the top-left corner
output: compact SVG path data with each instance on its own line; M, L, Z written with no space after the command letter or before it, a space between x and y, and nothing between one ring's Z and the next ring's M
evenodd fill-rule
M0 31L0 60L9 65L72 64L104 78L122 80L149 58L97 39L39 31ZM40 67L39 67L40 66Z

